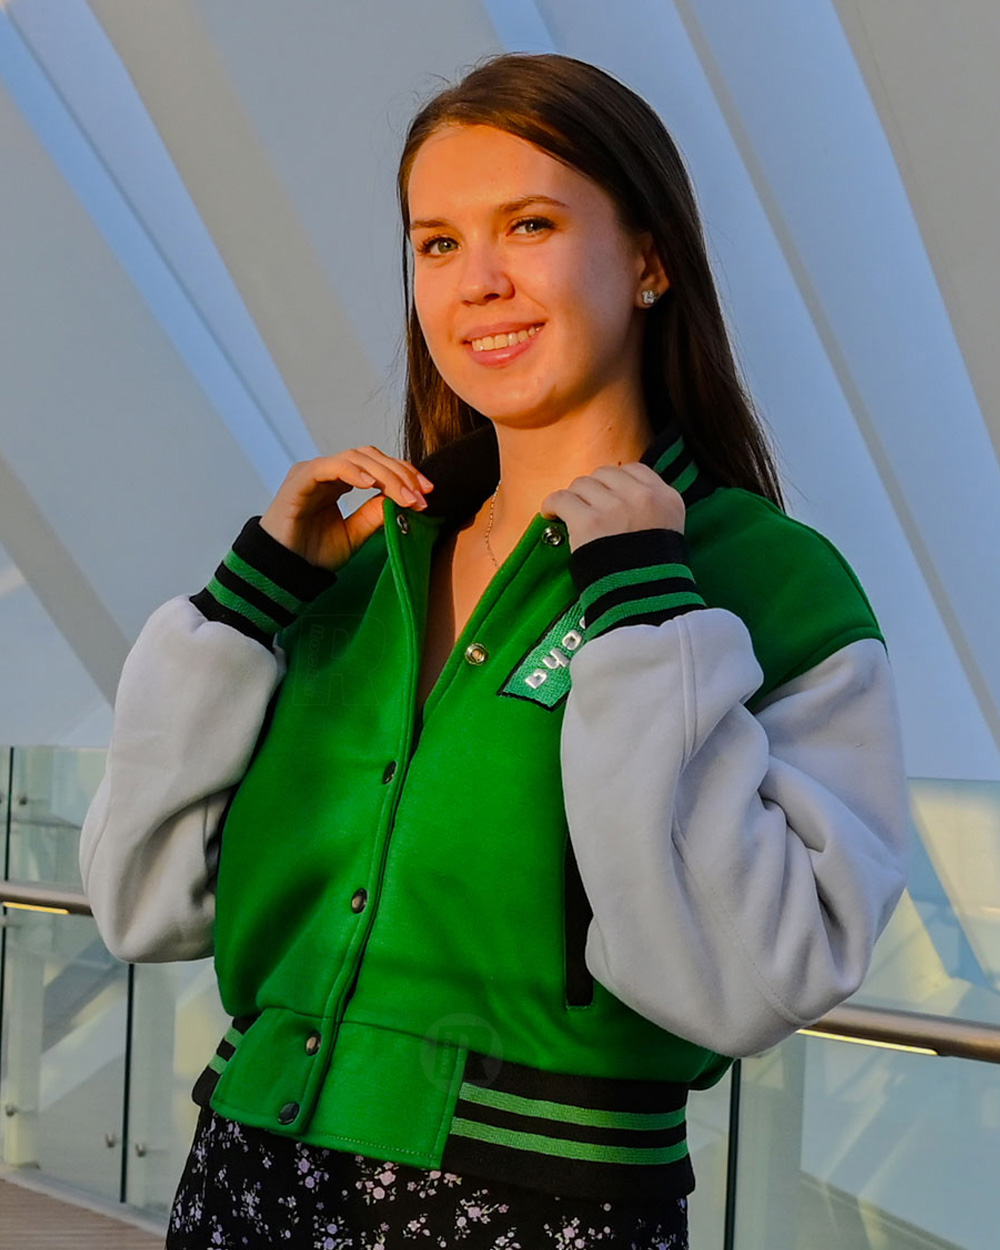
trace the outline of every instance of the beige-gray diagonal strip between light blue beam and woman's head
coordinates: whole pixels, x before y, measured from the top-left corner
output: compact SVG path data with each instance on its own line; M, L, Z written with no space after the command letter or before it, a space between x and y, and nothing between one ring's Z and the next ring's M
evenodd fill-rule
M189 0L90 0L128 66L316 445L384 421L382 379ZM248 6L238 21L252 21ZM235 31L234 31L235 34ZM356 108L340 99L339 109ZM324 154L310 154L322 160Z

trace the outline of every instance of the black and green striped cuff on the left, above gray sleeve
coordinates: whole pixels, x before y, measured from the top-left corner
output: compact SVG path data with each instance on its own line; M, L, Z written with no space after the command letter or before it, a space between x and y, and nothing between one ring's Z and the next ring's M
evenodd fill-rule
M261 529L259 516L251 516L191 602L209 620L271 646L275 634L335 581L336 574L290 551Z

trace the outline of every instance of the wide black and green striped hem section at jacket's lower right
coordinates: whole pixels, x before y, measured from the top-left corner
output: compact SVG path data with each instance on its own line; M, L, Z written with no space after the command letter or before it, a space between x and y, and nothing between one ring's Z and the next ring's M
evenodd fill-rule
M470 1051L441 1161L575 1198L659 1201L694 1188L688 1089L546 1072Z

